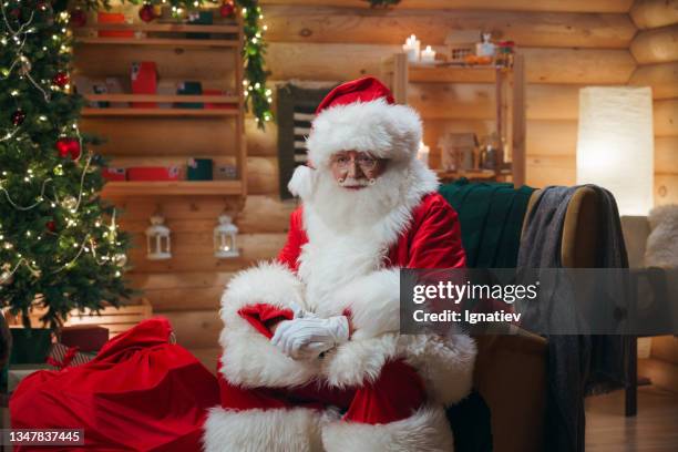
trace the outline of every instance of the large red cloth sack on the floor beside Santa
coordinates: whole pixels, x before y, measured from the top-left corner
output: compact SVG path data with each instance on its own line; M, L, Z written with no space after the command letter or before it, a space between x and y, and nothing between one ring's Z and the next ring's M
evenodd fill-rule
M84 429L84 446L96 451L199 451L218 383L186 349L168 343L171 333L166 319L148 319L85 364L30 374L10 400L12 428ZM14 450L32 449L44 448Z

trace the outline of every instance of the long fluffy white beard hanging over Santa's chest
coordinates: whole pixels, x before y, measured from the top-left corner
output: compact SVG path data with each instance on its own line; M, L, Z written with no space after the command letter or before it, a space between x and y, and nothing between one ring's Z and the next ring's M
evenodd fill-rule
M298 172L298 173L297 173ZM308 307L338 315L333 294L380 269L389 248L407 229L413 208L438 186L419 161L390 161L373 185L347 189L329 168L297 168L290 189L304 201L308 243L299 257Z

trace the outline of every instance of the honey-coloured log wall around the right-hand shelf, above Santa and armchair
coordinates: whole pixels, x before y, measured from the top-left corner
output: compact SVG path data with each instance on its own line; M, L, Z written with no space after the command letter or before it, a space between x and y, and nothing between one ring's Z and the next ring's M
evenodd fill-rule
M411 33L422 44L441 45L454 31L492 31L525 54L527 183L573 184L578 89L626 84L636 68L628 50L636 33L630 2L499 3L403 0L383 11L359 1L264 0L268 69L274 81L378 75L381 58L397 52ZM424 119L433 164L444 132L482 136L493 130L491 81L471 75L453 82L410 85L408 102Z

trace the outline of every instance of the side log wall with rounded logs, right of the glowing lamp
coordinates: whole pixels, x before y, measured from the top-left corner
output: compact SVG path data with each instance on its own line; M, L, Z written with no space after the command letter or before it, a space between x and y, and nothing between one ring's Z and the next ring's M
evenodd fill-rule
M630 84L653 88L655 204L678 203L678 0L637 0Z

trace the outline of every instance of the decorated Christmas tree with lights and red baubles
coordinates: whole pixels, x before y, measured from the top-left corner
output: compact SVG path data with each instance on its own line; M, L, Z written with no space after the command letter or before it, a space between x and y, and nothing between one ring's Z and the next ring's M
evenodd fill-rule
M0 300L56 326L73 308L117 306L129 237L100 198L101 158L78 121L65 2L0 2Z

